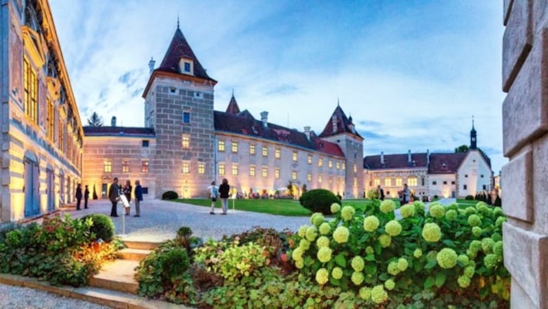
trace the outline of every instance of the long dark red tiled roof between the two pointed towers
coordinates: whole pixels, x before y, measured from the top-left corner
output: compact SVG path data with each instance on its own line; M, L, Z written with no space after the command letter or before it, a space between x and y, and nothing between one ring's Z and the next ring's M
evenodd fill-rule
M268 127L265 128L262 121L253 118L247 109L237 114L215 111L214 124L216 131L269 139L275 142L282 142L284 144L291 144L323 152L336 157L345 157L345 154L340 150L340 147L337 144L316 137L312 132L310 133L310 139L308 139L305 133L288 129L284 126L278 126L277 124L269 123Z

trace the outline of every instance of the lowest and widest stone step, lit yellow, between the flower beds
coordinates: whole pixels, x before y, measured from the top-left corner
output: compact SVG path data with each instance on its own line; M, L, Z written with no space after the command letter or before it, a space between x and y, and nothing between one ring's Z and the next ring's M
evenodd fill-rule
M90 286L108 290L137 293L139 284L134 278L136 260L114 260L103 264L101 271L90 278Z

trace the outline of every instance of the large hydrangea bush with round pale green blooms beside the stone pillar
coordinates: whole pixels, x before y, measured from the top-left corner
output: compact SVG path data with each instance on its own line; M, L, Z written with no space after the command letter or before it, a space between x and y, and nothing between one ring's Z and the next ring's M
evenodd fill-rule
M401 219L392 200L331 209L334 219L315 213L290 242L303 278L369 306L509 306L500 207L434 202L425 212L414 202L401 207Z

